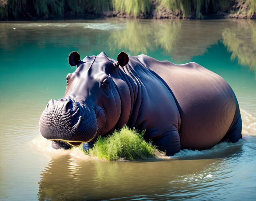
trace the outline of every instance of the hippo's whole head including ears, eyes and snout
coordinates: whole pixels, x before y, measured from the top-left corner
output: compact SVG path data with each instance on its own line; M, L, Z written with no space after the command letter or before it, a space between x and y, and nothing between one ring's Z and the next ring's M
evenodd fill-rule
M119 65L127 65L128 60L123 52L117 61L104 52L83 60L72 52L69 64L77 68L67 75L64 97L50 100L43 111L39 122L42 136L78 146L91 141L96 134L112 132L123 112L120 89L129 92L119 70Z

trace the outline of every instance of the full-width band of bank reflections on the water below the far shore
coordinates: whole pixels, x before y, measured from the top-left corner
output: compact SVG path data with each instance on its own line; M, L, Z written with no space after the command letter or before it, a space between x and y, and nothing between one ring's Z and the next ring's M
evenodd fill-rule
M16 27L14 30L13 27ZM11 51L25 43L39 49L55 47L94 50L115 55L168 55L178 63L203 55L219 40L232 52L231 59L256 71L256 22L253 20L131 20L113 19L58 23L0 23L0 49ZM33 35L33 37L30 37ZM97 49L97 51L95 50ZM67 50L68 52L68 50Z

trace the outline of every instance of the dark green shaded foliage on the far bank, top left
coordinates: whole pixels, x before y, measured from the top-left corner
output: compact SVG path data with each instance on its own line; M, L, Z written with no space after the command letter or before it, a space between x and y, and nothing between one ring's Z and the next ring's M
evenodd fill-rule
M63 19L65 15L100 14L112 9L111 0L8 0L0 4L0 19Z

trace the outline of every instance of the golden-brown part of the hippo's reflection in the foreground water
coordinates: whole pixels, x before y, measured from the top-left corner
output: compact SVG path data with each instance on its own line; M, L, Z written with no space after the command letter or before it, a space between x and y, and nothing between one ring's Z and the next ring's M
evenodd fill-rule
M39 200L101 200L107 198L164 194L168 182L203 170L217 159L196 161L185 160L162 162L104 162L76 161L79 168L76 176L71 174L71 158L63 156L52 159L41 173ZM168 165L167 165L168 164ZM77 166L76 166L77 167ZM161 170L159 170L161 167ZM183 168L180 168L183 167ZM179 170L179 171L177 171ZM156 172L158 172L156 174Z

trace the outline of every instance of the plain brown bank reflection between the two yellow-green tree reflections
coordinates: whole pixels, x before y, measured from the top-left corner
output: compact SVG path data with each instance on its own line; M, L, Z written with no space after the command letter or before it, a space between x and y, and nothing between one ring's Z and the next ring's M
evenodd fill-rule
M203 55L221 39L222 31L231 25L230 20L186 20L182 21L175 51L170 53L174 61L191 61Z

